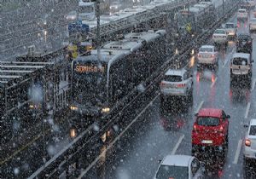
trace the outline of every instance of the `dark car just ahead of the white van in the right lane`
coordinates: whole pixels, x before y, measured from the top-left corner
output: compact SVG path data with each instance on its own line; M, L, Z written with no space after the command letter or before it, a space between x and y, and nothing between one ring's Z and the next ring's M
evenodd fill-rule
M253 38L249 34L240 34L237 37L236 52L251 54L253 51Z

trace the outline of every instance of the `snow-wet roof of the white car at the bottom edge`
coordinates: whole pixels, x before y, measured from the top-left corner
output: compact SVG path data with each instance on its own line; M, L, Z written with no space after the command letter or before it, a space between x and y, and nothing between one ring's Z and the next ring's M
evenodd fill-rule
M161 165L189 166L189 161L194 159L189 155L167 155L161 162Z

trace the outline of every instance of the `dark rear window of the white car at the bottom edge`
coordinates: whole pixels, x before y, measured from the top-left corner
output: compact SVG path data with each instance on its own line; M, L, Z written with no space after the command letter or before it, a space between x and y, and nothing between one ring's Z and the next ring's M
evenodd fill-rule
M157 171L157 179L183 179L189 177L189 169L186 166L170 166L170 165L160 165Z

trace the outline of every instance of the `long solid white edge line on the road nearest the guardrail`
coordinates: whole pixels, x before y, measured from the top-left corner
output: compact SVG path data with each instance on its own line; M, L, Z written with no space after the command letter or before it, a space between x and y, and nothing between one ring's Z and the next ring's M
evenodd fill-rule
M108 152L108 150L109 150L111 147L113 147L113 144L114 144L116 141L118 141L121 136L123 136L123 135L125 134L125 131L128 130L128 129L131 127L131 125L134 124L134 123L137 121L137 118L139 118L139 117L148 109L148 107L150 107L150 106L152 105L152 103L157 99L158 96L159 96L159 95L156 95L156 96L154 97L154 99L148 103L147 107L145 107L145 108L143 109L143 111L142 111L141 113L139 113L139 114L137 115L137 117L134 118L134 119L131 121L131 124L129 124L129 125L125 128L125 130L123 130L123 131L119 134L119 136L117 136L117 137L108 145L108 147L107 147L98 157L96 157L96 159L94 159L93 162L92 162L84 171L81 172L80 176L78 177L79 179L81 179L94 165L96 165L96 163L98 162L98 160L101 159L101 158Z

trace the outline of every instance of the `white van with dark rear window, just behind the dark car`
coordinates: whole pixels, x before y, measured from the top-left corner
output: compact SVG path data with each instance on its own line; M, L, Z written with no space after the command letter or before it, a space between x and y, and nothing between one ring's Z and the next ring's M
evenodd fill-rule
M230 79L241 77L251 78L252 62L250 54L235 53L230 61Z

